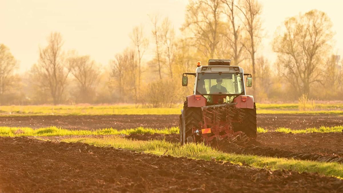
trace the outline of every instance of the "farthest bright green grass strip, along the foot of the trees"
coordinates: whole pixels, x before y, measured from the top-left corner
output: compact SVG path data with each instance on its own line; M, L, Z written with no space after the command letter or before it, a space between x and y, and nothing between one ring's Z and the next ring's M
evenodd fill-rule
M343 114L343 104L316 104L315 111L298 111L298 104L257 103L258 114ZM136 108L135 105L28 105L0 106L0 115L109 115L109 114L180 114L182 105L174 108Z

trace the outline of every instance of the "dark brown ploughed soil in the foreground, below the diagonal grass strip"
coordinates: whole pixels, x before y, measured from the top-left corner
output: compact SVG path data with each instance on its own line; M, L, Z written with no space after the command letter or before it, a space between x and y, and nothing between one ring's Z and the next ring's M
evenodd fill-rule
M342 192L313 173L154 156L81 143L0 138L0 192Z

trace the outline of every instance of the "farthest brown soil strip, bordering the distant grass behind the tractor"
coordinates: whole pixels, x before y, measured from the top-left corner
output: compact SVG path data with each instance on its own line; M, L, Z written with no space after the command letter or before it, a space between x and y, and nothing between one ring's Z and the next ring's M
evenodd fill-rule
M179 115L35 115L35 116L0 116L0 126L10 127L49 127L58 126L66 129L98 128L165 128L178 126ZM260 114L257 126L273 130L278 127L304 129L308 127L343 125L341 115L291 115Z

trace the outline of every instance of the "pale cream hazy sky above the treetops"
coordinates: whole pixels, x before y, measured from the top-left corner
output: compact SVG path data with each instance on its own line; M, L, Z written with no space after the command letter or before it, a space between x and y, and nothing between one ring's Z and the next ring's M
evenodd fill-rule
M107 65L116 53L130 45L128 34L143 24L151 35L148 14L169 16L176 30L184 22L187 0L0 0L0 43L19 60L20 71L38 60L39 46L46 46L52 31L60 32L64 50L75 49ZM275 60L270 42L277 26L311 9L326 12L336 32L335 52L343 54L343 1L260 0L263 4L263 55ZM260 53L262 53L260 52ZM152 54L152 53L148 53Z

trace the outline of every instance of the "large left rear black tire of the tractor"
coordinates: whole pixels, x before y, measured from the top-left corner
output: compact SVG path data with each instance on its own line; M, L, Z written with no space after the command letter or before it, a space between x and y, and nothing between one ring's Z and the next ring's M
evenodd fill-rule
M192 136L192 128L200 129L199 122L202 122L201 107L188 107L188 102L184 103L184 115L185 115L185 139L188 136Z

